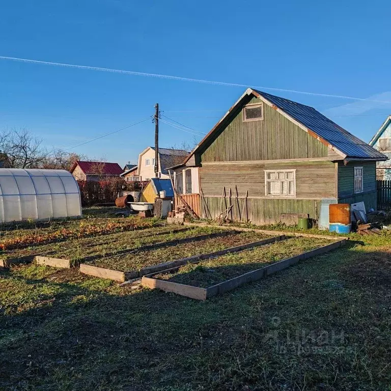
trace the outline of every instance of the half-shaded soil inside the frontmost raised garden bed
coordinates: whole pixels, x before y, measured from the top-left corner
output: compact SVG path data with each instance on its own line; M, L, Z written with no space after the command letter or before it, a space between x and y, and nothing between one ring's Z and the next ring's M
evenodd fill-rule
M173 273L154 277L174 283L208 288L268 264L294 257L306 251L330 244L327 239L290 238L281 242L228 254L197 264L188 264Z

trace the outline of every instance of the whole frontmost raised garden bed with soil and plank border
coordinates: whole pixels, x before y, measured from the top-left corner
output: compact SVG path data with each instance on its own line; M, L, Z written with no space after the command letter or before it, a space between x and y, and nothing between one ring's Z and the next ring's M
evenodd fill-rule
M345 239L291 238L267 247L246 250L213 260L177 266L143 276L142 284L182 296L206 300L248 282L283 270L300 260L338 248ZM327 244L326 244L327 243ZM284 259L286 255L289 258Z

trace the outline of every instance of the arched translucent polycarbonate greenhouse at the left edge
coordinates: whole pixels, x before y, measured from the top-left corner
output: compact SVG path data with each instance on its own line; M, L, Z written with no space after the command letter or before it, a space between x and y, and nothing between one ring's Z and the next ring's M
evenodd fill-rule
M0 222L80 215L79 186L68 171L0 169Z

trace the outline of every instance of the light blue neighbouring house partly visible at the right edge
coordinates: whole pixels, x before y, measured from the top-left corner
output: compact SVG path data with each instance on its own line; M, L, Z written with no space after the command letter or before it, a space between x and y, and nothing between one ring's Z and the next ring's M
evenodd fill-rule
M373 148L388 157L386 161L378 161L376 164L376 177L379 180L391 180L391 116L388 116L380 129L369 142Z

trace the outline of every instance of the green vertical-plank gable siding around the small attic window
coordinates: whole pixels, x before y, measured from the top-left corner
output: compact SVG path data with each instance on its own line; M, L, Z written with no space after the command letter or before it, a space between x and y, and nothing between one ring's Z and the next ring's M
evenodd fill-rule
M249 101L260 102L261 100L256 97ZM201 161L278 160L327 156L328 149L325 145L266 103L263 104L262 121L243 122L242 107L236 110L231 122L223 124L214 139L204 147Z

